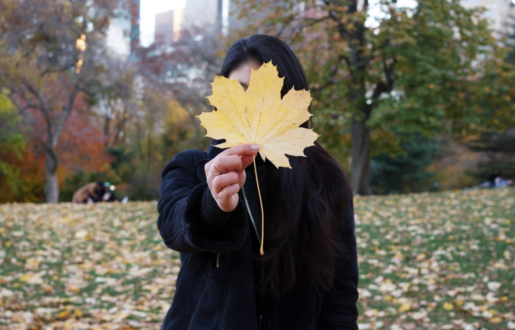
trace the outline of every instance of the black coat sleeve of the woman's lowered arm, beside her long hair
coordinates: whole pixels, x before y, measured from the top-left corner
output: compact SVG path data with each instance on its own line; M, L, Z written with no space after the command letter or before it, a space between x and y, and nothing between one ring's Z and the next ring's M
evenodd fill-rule
M324 330L357 330L357 249L354 234L354 208L349 205L342 231L345 255L337 265L334 288L327 292L322 302L320 315Z

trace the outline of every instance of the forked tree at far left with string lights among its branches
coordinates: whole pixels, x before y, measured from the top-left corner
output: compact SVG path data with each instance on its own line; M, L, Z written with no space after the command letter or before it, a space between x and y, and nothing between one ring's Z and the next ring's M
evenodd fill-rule
M101 70L95 58L115 7L111 0L0 2L0 81L44 149L47 202L59 199L58 142L78 95Z

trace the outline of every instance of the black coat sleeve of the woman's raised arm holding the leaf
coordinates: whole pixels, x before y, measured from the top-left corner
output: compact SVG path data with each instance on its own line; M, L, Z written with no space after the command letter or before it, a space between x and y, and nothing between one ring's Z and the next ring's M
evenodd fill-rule
M243 246L247 232L241 202L224 212L205 181L205 153L183 151L162 173L158 229L164 243L179 252L231 252Z

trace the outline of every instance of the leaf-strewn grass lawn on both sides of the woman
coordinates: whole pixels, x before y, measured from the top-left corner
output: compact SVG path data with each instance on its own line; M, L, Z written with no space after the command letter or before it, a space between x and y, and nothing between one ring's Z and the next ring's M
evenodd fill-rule
M357 197L360 329L515 329L515 189ZM0 329L159 329L156 202L0 205Z

